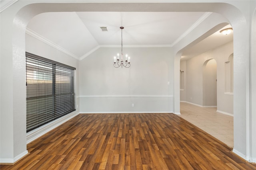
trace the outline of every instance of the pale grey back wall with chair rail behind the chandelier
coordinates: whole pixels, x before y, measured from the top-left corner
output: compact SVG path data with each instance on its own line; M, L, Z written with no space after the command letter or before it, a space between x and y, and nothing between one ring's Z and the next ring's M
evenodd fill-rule
M172 112L172 49L123 51L131 57L130 68L114 68L120 48L100 48L80 61L80 112Z

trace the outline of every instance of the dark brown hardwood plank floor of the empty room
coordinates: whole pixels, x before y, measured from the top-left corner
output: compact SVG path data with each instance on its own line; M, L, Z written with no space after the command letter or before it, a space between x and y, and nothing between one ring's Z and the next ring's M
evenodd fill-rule
M230 147L174 114L80 114L28 144L1 170L256 169Z

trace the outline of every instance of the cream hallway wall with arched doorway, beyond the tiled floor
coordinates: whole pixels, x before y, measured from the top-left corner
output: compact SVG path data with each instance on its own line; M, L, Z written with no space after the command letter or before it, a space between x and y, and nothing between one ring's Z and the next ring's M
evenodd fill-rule
M204 104L203 100L203 65L210 59L215 59L217 64L217 109L218 111L233 114L233 95L225 94L225 62L233 53L233 42L222 45L193 57L186 63L186 102L200 106L216 106Z

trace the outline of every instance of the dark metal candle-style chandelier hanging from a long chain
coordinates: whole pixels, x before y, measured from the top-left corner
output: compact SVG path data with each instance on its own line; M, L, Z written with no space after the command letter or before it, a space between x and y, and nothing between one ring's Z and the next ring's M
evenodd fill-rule
M124 27L120 27L121 29L121 59L119 59L119 53L117 54L117 59L116 59L116 56L114 57L114 67L118 68L121 66L121 68L126 67L130 67L131 64L130 64L130 57L128 57L128 55L126 54L125 55L125 61L123 59L123 29ZM127 60L128 58L128 60Z

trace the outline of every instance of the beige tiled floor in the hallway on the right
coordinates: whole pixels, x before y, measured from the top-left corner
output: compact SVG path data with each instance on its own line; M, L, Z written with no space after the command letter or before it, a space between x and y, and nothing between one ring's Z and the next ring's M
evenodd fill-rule
M233 117L216 112L216 107L199 107L180 102L180 117L234 147Z

